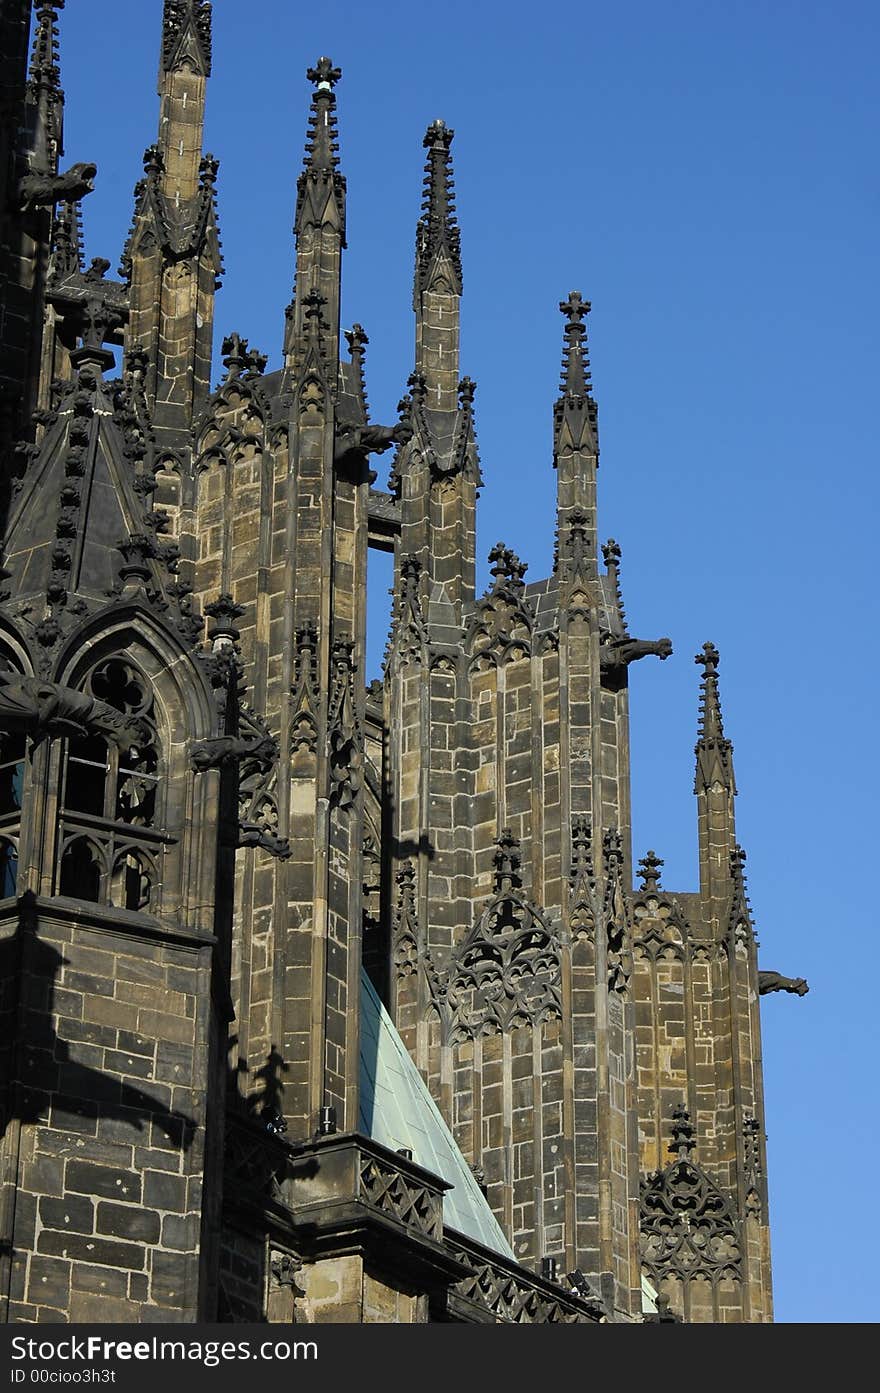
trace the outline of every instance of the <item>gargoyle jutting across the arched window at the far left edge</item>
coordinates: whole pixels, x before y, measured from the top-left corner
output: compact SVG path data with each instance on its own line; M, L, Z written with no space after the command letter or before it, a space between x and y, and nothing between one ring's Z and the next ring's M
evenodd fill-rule
M106 736L120 749L145 740L145 730L114 706L61 683L0 670L0 729L43 736Z

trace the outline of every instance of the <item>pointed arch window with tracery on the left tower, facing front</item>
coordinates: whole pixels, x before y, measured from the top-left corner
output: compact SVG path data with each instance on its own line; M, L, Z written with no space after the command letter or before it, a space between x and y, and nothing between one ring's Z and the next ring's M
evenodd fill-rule
M99 663L82 691L113 706L136 742L68 737L61 773L60 894L156 912L162 859L162 751L153 694L128 657Z

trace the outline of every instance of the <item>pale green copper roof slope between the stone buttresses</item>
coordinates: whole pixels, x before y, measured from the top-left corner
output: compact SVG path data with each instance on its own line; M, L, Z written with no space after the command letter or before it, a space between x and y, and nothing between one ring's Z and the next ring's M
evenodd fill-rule
M453 1185L443 1198L447 1229L512 1258L497 1219L366 972L361 981L359 1131L391 1151L407 1148L416 1165Z

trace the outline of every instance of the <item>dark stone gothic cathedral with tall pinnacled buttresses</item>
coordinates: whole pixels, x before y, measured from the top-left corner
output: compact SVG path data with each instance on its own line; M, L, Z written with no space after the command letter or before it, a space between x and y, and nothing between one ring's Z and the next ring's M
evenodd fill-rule
M671 644L599 540L589 302L553 574L498 543L478 593L453 131L398 419L340 325L327 57L283 366L231 333L214 387L212 7L156 0L118 279L61 163L61 8L0 20L6 1319L770 1321L759 996L806 983L757 970L712 644L699 892L634 869L629 670Z

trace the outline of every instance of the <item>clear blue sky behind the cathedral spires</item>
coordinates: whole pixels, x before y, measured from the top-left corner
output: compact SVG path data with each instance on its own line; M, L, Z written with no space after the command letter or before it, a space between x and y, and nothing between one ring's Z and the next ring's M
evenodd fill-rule
M61 17L67 160L99 164L88 254L114 265L156 135L160 13L68 0ZM810 983L762 1006L780 1321L880 1315L879 17L874 0L214 6L219 333L277 365L304 72L327 53L344 70L344 319L370 336L373 418L394 419L421 142L443 117L479 552L503 538L529 578L553 552L556 306L571 288L593 301L600 527L622 546L632 631L675 645L632 674L635 851L654 847L664 883L695 887L692 655L712 638L762 965Z

